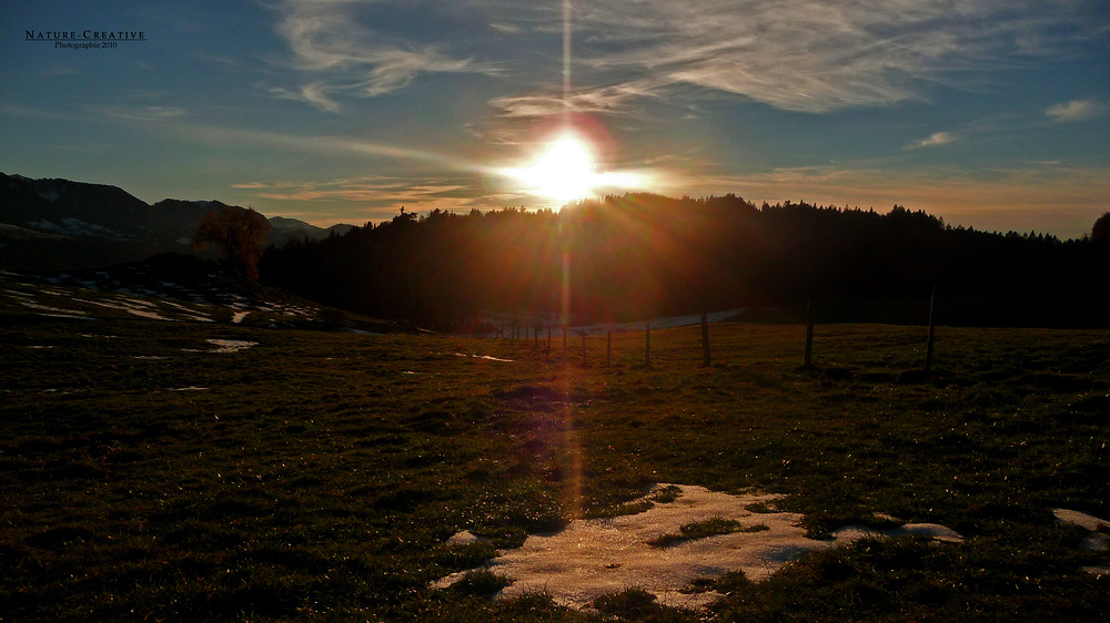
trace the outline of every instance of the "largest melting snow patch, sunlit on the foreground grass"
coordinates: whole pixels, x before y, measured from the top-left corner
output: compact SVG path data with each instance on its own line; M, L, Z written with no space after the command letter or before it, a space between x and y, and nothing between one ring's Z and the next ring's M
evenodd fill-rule
M657 487L667 487L659 484ZM919 534L938 541L961 541L942 525L906 524L895 530L848 527L834 539L807 539L800 528L803 515L788 512L756 513L751 504L774 504L776 496L729 496L702 487L679 486L682 496L669 503L658 503L638 514L613 519L578 520L555 534L529 535L517 550L502 551L484 569L513 580L497 599L528 593L549 594L559 604L586 607L595 599L629 588L656 595L659 603L675 607L704 607L723 595L714 592L679 593L694 580L720 578L743 571L751 581L769 578L775 571L801 554L817 549L847 544L862 538ZM718 534L679 542L668 547L648 542L667 534L678 534L682 525L725 518L745 528L766 525L758 531ZM473 538L453 537L454 543ZM434 588L447 588L468 572L441 579Z

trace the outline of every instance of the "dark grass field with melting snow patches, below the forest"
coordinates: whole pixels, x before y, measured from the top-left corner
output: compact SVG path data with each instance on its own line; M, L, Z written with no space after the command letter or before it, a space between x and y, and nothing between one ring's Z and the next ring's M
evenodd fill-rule
M0 620L1094 621L1110 554L1110 333L720 324L581 338L353 335L218 323L0 319ZM213 353L208 340L254 343ZM463 355L463 356L461 356ZM487 358L472 357L486 356ZM505 360L497 360L505 359ZM604 517L655 482L783 493L811 537L935 522L965 537L806 554L561 609L428 583ZM491 542L447 545L462 529Z

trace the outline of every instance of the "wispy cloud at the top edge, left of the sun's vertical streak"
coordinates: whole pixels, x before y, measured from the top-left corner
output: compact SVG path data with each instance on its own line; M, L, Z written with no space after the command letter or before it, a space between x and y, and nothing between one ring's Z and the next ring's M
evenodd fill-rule
M360 20L360 6L373 0L287 0L278 33L293 53L292 68L305 82L271 94L339 112L336 95L373 98L396 91L420 73L486 73L497 68L455 58L435 44L420 44Z

